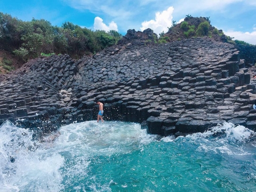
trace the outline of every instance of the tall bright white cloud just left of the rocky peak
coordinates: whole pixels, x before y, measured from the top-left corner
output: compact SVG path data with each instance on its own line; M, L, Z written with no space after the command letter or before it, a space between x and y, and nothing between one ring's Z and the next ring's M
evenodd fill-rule
M162 33L166 33L168 31L168 27L172 26L172 13L173 7L170 6L167 10L163 12L156 12L155 20L144 21L141 23L142 27L140 28L141 31L150 28L154 30L154 33L157 35Z

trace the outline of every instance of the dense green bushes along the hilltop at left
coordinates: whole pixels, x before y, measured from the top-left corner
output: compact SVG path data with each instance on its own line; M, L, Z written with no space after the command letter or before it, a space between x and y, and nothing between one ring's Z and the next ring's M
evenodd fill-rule
M71 22L52 26L44 19L21 21L0 12L0 49L13 52L23 61L42 54L69 54L80 58L117 43L122 35L115 30L92 31Z

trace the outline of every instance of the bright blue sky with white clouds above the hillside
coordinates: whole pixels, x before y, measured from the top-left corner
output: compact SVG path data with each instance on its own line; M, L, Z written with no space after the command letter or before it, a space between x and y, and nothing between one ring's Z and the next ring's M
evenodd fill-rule
M53 26L69 21L92 30L151 28L168 30L172 21L210 17L211 25L226 35L256 45L255 0L0 0L0 12L23 21L45 19Z

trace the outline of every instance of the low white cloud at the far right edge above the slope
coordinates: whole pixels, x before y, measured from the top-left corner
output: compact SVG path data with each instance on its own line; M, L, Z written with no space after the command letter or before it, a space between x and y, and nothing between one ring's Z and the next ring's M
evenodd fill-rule
M224 34L234 37L234 40L244 41L246 43L250 43L253 45L256 45L256 31L253 31L252 33L249 32L241 32L241 31L223 31Z

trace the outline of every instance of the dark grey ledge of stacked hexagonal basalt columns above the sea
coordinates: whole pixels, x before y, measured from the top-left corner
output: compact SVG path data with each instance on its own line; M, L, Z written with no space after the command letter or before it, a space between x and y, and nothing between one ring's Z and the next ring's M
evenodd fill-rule
M191 38L123 41L78 61L37 58L0 83L0 121L37 135L97 118L141 123L148 133L204 132L224 122L256 130L254 70L231 44Z

